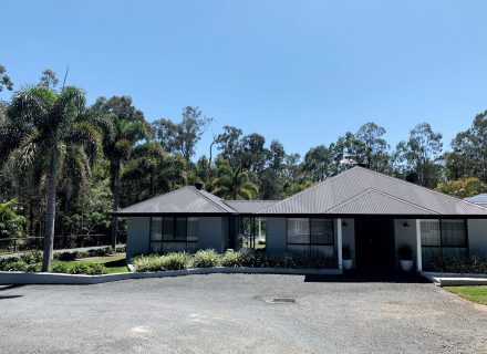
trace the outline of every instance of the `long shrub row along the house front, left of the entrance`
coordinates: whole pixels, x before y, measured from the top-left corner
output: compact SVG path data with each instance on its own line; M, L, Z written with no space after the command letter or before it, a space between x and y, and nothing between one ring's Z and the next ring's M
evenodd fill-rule
M137 272L182 270L189 268L213 267L251 267L251 268L296 268L319 269L333 268L335 261L323 256L287 253L280 256L244 254L241 252L217 253L214 250L203 250L195 254L175 252L165 256L138 256L132 260Z

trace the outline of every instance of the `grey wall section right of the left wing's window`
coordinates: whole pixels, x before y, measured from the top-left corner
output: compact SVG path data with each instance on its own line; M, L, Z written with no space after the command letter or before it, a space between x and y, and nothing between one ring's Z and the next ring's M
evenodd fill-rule
M199 249L214 249L222 252L228 243L228 218L204 217L198 218Z

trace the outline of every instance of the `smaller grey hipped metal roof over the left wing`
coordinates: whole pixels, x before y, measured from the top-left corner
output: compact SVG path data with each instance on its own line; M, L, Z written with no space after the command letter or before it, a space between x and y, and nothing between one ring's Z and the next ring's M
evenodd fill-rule
M193 186L141 201L118 210L117 215L128 214L228 214L235 212L220 198L198 190Z

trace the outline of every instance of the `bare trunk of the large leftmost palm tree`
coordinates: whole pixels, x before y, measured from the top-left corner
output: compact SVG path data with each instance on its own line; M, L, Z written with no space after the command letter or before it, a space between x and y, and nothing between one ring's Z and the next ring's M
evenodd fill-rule
M49 272L51 270L52 250L54 247L56 169L58 150L54 148L49 163L48 178L45 180L44 258L42 261L43 272Z

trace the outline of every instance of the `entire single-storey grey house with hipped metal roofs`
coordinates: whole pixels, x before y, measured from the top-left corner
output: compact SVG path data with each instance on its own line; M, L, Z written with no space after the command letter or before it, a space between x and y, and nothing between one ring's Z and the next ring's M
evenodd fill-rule
M331 257L339 269L344 244L359 269L397 268L402 243L418 271L438 256L487 256L487 208L359 166L280 201L222 200L188 186L117 215L128 222L128 258L238 248L241 220L265 220L266 252Z

